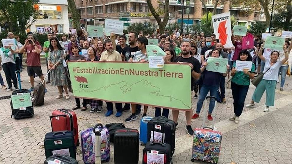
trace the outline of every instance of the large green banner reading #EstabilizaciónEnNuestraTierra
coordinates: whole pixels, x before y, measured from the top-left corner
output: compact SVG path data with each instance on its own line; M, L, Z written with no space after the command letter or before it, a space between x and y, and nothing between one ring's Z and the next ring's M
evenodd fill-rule
M165 64L158 69L140 62L69 62L68 68L75 97L191 109L187 64Z

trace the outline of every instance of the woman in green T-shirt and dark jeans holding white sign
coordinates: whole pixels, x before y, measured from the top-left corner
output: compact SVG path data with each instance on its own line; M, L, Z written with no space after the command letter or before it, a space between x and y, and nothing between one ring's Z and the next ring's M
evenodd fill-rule
M239 53L239 61L252 61L252 57L247 50L242 50ZM233 97L233 108L234 116L230 117L229 120L239 123L239 116L242 114L245 98L247 95L248 88L250 86L250 79L252 80L255 75L255 64L252 63L251 71L243 70L237 71L235 69L236 62L232 66L232 81L231 81L231 90Z

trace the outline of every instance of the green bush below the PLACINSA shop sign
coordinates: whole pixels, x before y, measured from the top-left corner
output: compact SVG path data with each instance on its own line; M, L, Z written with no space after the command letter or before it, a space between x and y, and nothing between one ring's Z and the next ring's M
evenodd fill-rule
M128 31L136 31L139 33L140 31L143 31L144 35L147 34L152 34L153 32L156 31L158 26L155 23L149 22L149 21L144 21L144 22L138 22L138 23L133 23L128 27Z

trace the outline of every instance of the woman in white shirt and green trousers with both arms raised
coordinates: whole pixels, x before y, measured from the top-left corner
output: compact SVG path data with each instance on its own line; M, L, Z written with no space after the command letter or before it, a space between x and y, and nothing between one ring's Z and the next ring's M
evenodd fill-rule
M288 60L289 52L286 45L283 46L285 58L278 60L280 53L278 51L273 51L270 58L265 58L262 55L264 43L260 47L258 57L265 62L264 76L260 83L257 85L255 92L252 95L252 101L245 107L249 108L255 105L255 102L260 102L264 92L266 91L266 107L265 112L269 111L269 106L274 106L275 100L275 89L278 80L278 72L280 67Z

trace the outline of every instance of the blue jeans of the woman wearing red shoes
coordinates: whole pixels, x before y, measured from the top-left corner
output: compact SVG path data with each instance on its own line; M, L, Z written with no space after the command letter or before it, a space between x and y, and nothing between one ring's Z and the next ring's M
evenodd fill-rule
M206 86L204 84L202 85L202 87L200 89L199 100L197 103L197 110L196 110L197 114L200 113L202 106L203 106L203 102L204 102L208 92L210 91L210 96L216 97L218 88L219 88L219 86L217 86L217 85L215 85L215 86ZM209 104L209 114L212 113L214 106L215 106L215 99L212 98L210 100L210 104Z

